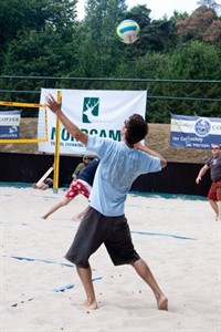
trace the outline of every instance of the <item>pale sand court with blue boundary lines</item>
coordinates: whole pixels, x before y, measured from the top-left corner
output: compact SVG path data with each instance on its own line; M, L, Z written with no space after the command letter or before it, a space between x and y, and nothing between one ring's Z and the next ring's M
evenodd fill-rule
M81 305L84 290L64 259L78 226L71 218L86 199L77 196L41 218L65 190L0 187L2 332L221 331L221 222L207 199L130 193L125 212L133 241L169 311L158 311L134 269L114 267L104 247L91 258L99 304L91 311Z

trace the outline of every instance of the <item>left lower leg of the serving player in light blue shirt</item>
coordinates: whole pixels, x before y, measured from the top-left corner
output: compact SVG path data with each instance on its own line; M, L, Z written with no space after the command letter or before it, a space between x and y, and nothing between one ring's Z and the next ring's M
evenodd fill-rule
M98 308L97 301L95 298L94 286L92 281L92 269L90 268L76 268L80 279L83 283L84 290L86 292L86 301L84 305L88 309L95 310Z

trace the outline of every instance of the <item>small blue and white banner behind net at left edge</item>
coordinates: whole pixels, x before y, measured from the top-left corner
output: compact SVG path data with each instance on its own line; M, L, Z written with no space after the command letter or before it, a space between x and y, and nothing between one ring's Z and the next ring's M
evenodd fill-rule
M0 139L19 139L21 111L0 111Z

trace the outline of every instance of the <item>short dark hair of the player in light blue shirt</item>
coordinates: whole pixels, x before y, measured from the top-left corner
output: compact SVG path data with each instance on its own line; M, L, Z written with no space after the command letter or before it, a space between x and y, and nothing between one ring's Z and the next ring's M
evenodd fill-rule
M139 114L129 116L129 118L125 121L125 126L127 128L125 138L129 144L140 142L148 134L148 124Z

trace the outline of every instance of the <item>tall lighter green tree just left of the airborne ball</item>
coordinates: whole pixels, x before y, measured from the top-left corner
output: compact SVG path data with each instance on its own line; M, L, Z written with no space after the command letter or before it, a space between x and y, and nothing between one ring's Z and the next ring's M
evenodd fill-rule
M126 10L125 0L87 0L82 22L80 65L86 76L110 75L123 48L116 27Z

